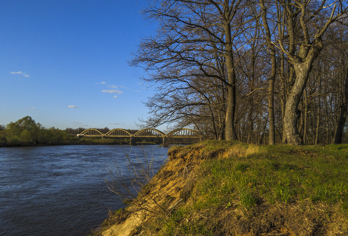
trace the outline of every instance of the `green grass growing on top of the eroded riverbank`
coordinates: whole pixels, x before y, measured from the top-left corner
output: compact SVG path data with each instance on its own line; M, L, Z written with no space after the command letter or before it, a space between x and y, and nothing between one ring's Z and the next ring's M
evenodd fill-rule
M199 151L205 157L221 152L223 158L201 163L187 204L159 219L156 235L216 235L217 223L211 220L216 211L231 209L239 220L257 214L262 204L312 208L324 204L348 215L347 144L298 147L206 141L174 149L181 155Z

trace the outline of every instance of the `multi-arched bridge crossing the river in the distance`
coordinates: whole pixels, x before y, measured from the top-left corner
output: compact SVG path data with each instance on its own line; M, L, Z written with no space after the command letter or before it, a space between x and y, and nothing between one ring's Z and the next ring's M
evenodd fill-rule
M130 133L126 129L112 129L104 134L98 129L86 129L77 135L78 137L130 137L130 144L132 144L132 139L136 137L148 138L148 137L158 137L163 138L163 145L165 138L201 138L201 135L197 130L193 129L175 129L165 134L164 132L158 129L141 129L135 134Z

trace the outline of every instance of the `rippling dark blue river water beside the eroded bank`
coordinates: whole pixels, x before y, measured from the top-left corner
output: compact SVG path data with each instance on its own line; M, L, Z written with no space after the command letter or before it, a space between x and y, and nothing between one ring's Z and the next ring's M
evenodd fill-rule
M167 159L156 145L67 145L0 148L0 235L86 235L125 205L105 179L117 166L151 156L155 171ZM127 176L126 176L127 177Z

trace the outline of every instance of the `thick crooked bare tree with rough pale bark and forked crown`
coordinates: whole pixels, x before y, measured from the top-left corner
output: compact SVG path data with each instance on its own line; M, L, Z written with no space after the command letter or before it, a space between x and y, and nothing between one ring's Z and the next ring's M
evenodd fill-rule
M279 40L282 51L294 67L295 79L285 106L284 124L288 143L303 144L297 128L299 102L307 84L314 60L324 47L323 36L329 26L347 12L342 3L325 6L312 1L279 1L286 13L288 47ZM332 7L332 8L331 8Z

